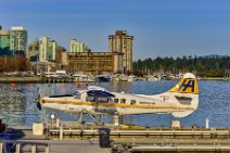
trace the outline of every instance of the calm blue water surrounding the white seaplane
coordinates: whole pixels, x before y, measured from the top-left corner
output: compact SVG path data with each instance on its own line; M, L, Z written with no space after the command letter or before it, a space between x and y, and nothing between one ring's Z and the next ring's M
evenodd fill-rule
M167 91L177 81L135 81L135 82L100 82L95 86L105 87L111 91L125 91L131 93L155 94ZM179 118L183 126L205 125L205 118L209 119L212 127L230 127L230 81L201 80L199 110L188 117ZM50 109L39 111L36 107L37 88L43 89L46 94L69 93L76 91L74 84L0 84L0 117L3 122L13 126L30 126L33 123L44 122L48 116L54 114L61 119L76 120L77 114L69 114ZM85 118L88 120L89 118ZM126 116L125 120L141 126L169 126L173 115L142 114ZM106 122L111 116L105 117Z

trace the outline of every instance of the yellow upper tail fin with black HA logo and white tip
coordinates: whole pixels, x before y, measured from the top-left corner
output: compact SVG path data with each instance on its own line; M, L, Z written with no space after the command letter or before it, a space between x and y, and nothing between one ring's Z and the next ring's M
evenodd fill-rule
M197 79L193 74L187 73L169 92L199 94Z

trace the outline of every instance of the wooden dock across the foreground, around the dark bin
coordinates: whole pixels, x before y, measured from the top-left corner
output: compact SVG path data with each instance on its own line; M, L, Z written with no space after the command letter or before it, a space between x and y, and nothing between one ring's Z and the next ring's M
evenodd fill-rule
M49 126L48 126L49 127ZM16 153L216 153L230 152L230 128L163 128L139 126L111 126L110 148L100 148L100 126L61 126L44 129L34 136L31 128L23 128L25 137L18 140L0 140L0 153L7 143L13 143ZM2 151L2 152L1 152Z

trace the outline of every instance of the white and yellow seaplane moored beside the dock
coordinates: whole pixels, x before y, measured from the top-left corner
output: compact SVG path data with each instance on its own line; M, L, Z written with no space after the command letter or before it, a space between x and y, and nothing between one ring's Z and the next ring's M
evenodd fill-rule
M132 114L173 114L184 117L197 110L199 84L192 73L187 73L180 81L166 92L153 95L111 92L104 88L89 86L73 94L40 97L38 107L72 112L111 114L118 118ZM118 122L115 119L115 125Z

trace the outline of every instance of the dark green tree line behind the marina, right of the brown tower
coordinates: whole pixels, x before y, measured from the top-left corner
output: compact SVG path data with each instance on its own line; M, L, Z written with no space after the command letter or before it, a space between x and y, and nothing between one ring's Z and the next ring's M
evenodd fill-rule
M223 58L159 58L138 60L133 62L133 73L145 75L153 73L192 72L202 77L225 77L230 69L230 56Z

